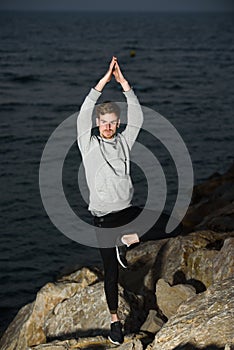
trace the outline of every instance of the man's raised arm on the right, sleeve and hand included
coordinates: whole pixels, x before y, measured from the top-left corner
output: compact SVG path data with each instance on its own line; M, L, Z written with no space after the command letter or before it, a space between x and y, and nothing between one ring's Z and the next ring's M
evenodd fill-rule
M142 127L143 113L138 98L136 97L133 89L130 87L128 81L124 78L117 61L115 63L113 75L115 76L115 80L121 84L123 94L127 99L127 126L122 132L122 135L125 137L128 146L131 149Z

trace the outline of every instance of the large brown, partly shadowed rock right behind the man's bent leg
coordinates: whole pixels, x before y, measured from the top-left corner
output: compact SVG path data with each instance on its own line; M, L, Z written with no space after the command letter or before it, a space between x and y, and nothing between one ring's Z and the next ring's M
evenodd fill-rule
M130 269L120 271L120 283L125 289L143 297L147 313L150 309L155 309L155 285L160 278L170 285L190 284L198 293L203 292L216 279L217 272L213 267L215 259L218 259L220 267L226 266L223 277L219 271L220 279L232 275L231 243L224 244L229 235L234 233L199 231L186 236L141 243L128 252ZM229 247L229 250L225 247Z

